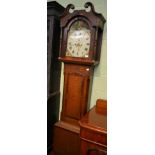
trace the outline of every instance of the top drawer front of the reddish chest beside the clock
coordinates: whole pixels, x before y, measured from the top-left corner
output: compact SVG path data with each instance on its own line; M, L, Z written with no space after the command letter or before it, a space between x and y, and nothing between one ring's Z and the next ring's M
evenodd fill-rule
M107 134L81 128L80 137L94 143L107 145Z

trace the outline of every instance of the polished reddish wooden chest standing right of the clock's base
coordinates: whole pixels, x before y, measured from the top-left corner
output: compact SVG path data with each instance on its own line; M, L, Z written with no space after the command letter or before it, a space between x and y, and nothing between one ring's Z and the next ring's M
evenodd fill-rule
M80 155L107 154L107 101L97 100L80 120Z

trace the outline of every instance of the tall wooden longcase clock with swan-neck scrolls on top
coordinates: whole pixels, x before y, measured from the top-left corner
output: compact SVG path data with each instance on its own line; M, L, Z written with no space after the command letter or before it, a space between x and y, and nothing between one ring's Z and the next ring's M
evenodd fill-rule
M69 4L61 16L59 60L64 62L61 119L55 124L53 151L79 155L79 120L89 109L94 66L99 63L105 19L92 3L85 10Z

